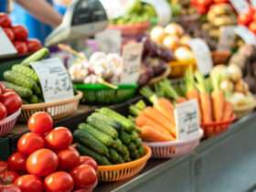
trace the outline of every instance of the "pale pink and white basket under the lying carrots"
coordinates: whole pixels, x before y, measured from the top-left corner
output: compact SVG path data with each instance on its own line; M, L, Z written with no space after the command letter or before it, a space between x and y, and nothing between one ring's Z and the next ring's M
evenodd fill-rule
M200 129L199 134L193 138L172 141L172 142L154 142L145 143L152 150L152 157L157 159L172 158L191 153L200 143L204 132Z

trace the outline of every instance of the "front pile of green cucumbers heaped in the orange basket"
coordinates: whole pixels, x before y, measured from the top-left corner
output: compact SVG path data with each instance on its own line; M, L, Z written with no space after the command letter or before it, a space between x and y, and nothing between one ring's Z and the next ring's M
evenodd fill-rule
M117 165L144 155L134 123L109 108L101 108L80 123L74 132L80 155L93 157L99 165Z

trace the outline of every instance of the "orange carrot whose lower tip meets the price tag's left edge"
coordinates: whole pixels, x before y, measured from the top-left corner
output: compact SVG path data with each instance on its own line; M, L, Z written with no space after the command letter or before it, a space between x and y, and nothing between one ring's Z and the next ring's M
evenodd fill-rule
M169 133L172 133L176 136L176 125L170 121L168 121L161 112L158 112L152 107L147 107L144 109L144 114L152 119L155 123L160 124L162 127L168 129Z

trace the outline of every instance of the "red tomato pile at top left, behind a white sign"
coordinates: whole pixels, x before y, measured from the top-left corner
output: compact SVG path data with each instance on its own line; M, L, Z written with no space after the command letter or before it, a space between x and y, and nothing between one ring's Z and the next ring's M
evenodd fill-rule
M37 39L27 39L27 28L12 26L11 19L4 13L0 13L0 27L3 27L5 35L13 42L19 55L33 53L42 48L42 44Z

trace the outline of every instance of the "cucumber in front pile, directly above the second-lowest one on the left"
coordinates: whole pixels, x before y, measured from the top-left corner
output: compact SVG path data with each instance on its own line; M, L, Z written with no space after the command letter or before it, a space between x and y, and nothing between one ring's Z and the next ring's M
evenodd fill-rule
M106 146L111 146L113 144L113 139L106 133L102 133L101 131L95 129L90 124L80 123L79 129L84 131L85 133L90 133L96 139L98 139L102 144Z

